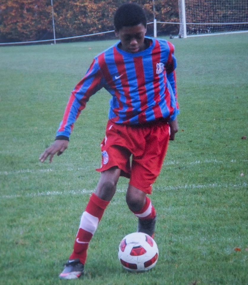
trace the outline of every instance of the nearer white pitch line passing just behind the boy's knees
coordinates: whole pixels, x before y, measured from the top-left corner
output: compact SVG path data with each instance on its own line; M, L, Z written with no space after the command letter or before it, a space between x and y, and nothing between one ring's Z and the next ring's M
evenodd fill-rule
M217 188L217 187L222 187L222 188L228 188L228 187L246 187L247 183L242 183L242 184L207 184L207 185L195 185L195 184L190 184L190 185L179 185L179 186L164 186L164 187L154 187L154 190L156 189L158 191L166 191L166 190L178 190L178 189L202 189L202 188ZM10 199L10 198L18 198L18 197L41 197L41 196L57 196L57 195L77 195L77 194L90 194L94 190L86 190L86 189L81 189L81 190L70 190L70 191L46 191L46 192L38 192L38 193L28 193L28 194L12 194L12 195L2 195L0 196L1 199ZM117 189L116 192L118 193L123 193L126 192L126 189Z

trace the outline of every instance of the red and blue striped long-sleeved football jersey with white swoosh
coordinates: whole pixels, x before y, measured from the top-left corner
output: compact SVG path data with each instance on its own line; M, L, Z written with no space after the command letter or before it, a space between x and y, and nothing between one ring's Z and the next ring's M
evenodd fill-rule
M179 107L174 46L163 39L145 39L150 46L138 53L120 49L117 42L94 58L71 93L57 136L70 136L89 97L101 88L112 95L108 117L117 124L175 119Z

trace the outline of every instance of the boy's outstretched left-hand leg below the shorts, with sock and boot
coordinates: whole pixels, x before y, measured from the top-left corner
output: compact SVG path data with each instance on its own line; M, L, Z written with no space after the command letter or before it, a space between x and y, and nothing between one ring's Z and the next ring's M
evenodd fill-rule
M101 173L95 193L90 196L85 211L81 216L73 252L65 264L63 272L60 274L60 278L76 279L83 274L89 242L97 229L104 210L115 194L119 176L120 170L117 167L112 167Z

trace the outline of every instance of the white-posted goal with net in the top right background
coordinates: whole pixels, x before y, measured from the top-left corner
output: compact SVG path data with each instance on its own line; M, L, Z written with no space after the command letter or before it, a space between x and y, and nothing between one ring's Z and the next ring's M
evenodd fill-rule
M179 0L179 17L179 37L248 31L248 0Z

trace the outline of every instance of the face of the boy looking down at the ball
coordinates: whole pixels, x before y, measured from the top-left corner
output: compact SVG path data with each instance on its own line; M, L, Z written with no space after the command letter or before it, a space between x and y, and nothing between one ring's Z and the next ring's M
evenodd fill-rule
M137 53L145 49L145 33L146 28L143 24L115 30L116 37L121 41L121 49L129 53Z

